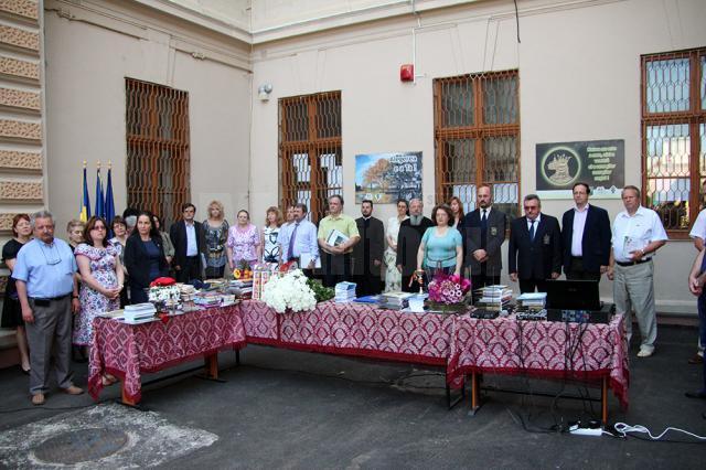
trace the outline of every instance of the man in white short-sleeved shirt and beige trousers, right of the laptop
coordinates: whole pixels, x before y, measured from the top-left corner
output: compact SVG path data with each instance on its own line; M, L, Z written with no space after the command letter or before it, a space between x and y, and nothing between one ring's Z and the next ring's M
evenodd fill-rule
M625 210L613 222L608 278L614 280L616 310L624 314L628 342L632 338L631 310L634 309L642 335L638 357L649 357L654 353L657 338L652 257L667 236L657 213L640 205L637 186L623 188L622 203Z

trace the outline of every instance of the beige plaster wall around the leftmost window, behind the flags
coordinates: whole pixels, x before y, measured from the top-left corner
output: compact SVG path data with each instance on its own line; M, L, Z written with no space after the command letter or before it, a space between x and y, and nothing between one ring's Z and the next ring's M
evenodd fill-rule
M83 160L92 205L96 161L110 160L116 211L125 209L125 77L189 92L196 216L218 199L232 218L247 205L252 74L247 58L244 66L236 56L247 57L248 49L232 40L214 45L213 34L149 12L124 11L118 21L113 13L75 9L74 20L46 13L47 201L60 233L78 212Z

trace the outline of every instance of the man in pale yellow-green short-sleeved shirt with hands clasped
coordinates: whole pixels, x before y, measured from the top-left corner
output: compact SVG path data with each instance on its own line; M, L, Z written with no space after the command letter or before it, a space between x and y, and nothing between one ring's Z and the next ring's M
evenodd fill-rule
M346 241L333 241L331 234L338 231ZM329 197L329 215L319 222L319 247L321 248L321 268L323 285L334 287L343 280L351 280L351 252L361 235L353 217L343 214L343 197L335 194Z

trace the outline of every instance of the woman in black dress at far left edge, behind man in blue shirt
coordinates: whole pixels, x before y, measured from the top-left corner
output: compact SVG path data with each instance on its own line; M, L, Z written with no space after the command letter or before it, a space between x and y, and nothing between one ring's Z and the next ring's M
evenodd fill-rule
M30 225L30 216L26 214L17 214L12 218L12 234L14 237L2 247L2 260L10 269L10 274L14 269L20 248L30 241L32 236L32 226ZM2 328L17 328L18 350L20 351L20 367L25 374L30 373L30 352L26 344L26 335L24 333L24 321L22 320L22 309L18 300L18 290L14 285L14 278L8 278L8 285L4 289L4 301L2 302Z

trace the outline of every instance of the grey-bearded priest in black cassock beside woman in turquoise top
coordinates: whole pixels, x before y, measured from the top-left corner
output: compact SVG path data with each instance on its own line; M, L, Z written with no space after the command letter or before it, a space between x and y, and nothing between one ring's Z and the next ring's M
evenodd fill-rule
M409 201L409 218L399 224L397 235L397 269L402 273L402 290L405 292L418 292L419 285L416 280L409 284L417 269L417 250L421 244L421 237L427 228L434 226L430 218L421 213L424 204L419 199Z

